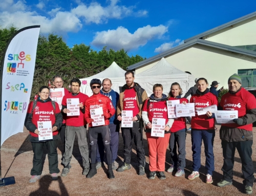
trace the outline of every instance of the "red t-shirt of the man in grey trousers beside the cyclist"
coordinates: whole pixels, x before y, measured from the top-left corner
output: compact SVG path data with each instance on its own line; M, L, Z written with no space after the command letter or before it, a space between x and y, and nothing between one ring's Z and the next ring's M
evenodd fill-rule
M62 105L67 106L67 99L72 99L72 98L78 98L79 99L79 103L82 103L83 105L86 104L86 100L88 99L88 96L83 94L83 93L78 93L77 95L73 95L72 93L69 93L67 95L65 95L62 99ZM86 125L86 121L83 118L84 114L81 112L80 109L80 115L79 116L67 116L66 118L66 125L67 126L83 126Z

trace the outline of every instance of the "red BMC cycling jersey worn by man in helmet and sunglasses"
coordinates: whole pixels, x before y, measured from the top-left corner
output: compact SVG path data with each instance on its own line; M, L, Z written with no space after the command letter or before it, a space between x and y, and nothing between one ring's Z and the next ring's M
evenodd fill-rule
M89 97L86 100L85 107L86 107L86 113L84 114L84 120L87 118L91 118L90 110L93 108L102 107L103 114L109 113L111 114L111 116L114 116L116 112L110 98L100 93L97 95L93 94L91 97ZM105 117L104 117L104 121L105 121L105 125L110 124L110 120ZM89 126L92 127L92 123L90 123Z

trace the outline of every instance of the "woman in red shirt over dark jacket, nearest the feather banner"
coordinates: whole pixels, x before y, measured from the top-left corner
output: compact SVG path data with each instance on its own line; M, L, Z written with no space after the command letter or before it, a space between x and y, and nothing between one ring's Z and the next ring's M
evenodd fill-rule
M36 101L30 102L28 106L28 117L26 119L26 128L30 133L30 141L33 148L33 168L31 169L31 179L29 182L36 182L40 179L42 173L42 155L43 148L46 145L48 150L49 170L52 180L57 180L59 173L58 169L58 154L57 154L57 139L58 129L62 125L62 114L60 113L58 103L53 102L49 98L50 90L47 86L41 86L39 89L39 97ZM35 102L35 105L34 105ZM54 110L55 105L55 110ZM33 117L32 117L33 116ZM38 127L38 122L50 121L52 124L53 139L39 140L40 132L38 128L42 128L42 123ZM44 139L44 138L43 138Z

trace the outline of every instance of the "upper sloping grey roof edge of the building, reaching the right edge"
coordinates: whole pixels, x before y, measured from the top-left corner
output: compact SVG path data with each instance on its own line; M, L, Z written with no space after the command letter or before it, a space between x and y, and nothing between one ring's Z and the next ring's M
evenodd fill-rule
M238 23L240 23L241 21L244 21L244 20L249 19L249 18L254 17L254 16L256 16L256 12L252 12L252 13L250 13L250 14L248 14L248 15L245 15L245 16L240 17L240 18L238 18L238 19L232 20L232 21L230 21L230 22L228 22L228 23L226 23L226 24L224 24L224 25L218 26L218 27L216 27L216 28L210 29L210 30L205 31L205 32L203 32L203 33L200 33L200 34L198 34L198 35L196 35L196 36L193 36L193 37L190 37L190 38L188 38L188 39L185 39L184 42L186 43L186 42L188 42L188 41L190 41L190 40L192 40L192 39L195 39L195 38L202 38L202 37L204 37L204 36L206 36L206 35L209 35L209 34L211 34L211 33L215 33L215 32L217 32L217 31L219 31L219 30L222 30L222 29L225 29L225 28L227 28L227 27L230 27L231 25L238 24Z

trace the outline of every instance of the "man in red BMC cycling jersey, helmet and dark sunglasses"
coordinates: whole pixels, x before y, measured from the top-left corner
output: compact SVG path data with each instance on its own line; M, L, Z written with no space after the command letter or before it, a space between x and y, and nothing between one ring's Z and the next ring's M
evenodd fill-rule
M89 124L89 142L91 146L91 169L87 175L87 178L92 178L97 173L96 169L96 154L98 136L101 135L101 139L106 152L106 160L108 161L108 177L109 179L115 178L112 170L112 153L110 148L110 118L115 115L115 108L109 97L100 94L101 81L99 79L92 79L90 82L93 95L86 100L86 113L84 119ZM102 115L96 114L96 110L101 110ZM97 116L98 122L95 122L92 115ZM97 123L104 121L104 125L98 125ZM93 124L93 123L95 124Z

